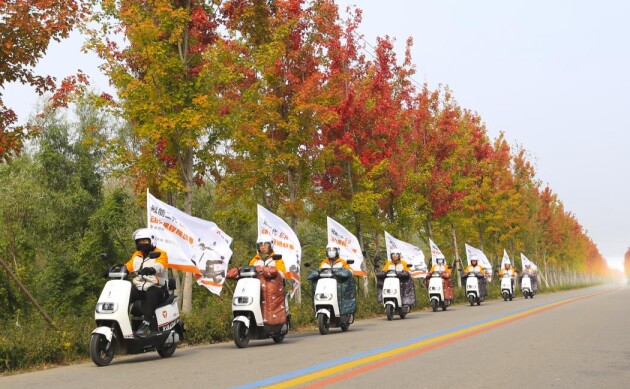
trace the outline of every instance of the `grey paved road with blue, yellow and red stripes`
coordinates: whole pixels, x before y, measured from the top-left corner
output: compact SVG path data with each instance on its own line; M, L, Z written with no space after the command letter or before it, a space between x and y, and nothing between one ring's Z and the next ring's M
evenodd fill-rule
M86 362L0 377L0 388L629 388L629 330L630 288L596 287L292 333L280 345Z

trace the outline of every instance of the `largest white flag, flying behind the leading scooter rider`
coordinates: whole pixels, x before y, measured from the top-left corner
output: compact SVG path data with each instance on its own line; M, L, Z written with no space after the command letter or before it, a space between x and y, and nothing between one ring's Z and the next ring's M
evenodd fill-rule
M198 284L220 294L232 258L232 238L216 223L182 212L148 191L147 214L156 246L168 254L168 267L194 273Z

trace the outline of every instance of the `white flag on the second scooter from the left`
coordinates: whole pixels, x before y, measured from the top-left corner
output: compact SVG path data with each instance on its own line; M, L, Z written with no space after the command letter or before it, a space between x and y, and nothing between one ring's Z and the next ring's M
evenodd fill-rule
M282 255L287 268L289 294L293 297L300 287L300 262L302 260L302 246L297 235L284 220L260 204L258 205L258 233L273 238L273 252Z

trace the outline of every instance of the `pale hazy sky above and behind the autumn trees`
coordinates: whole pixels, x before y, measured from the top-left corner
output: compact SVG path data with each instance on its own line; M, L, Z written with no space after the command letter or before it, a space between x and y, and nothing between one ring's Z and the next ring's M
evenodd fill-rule
M488 133L504 131L530 151L538 178L576 215L609 264L630 245L630 2L577 0L338 0L363 9L360 31L414 39L414 77L448 85L479 113ZM54 44L38 70L58 77L81 68L110 91L81 39ZM4 90L25 118L30 88ZM625 158L624 158L625 157Z

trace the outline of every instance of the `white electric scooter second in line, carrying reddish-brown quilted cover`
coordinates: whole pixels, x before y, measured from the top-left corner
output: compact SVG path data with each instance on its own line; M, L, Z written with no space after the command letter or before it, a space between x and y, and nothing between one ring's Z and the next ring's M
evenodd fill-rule
M279 255L278 255L279 256ZM280 277L280 275L278 275ZM284 324L265 324L261 309L261 282L255 266L243 266L239 269L239 278L232 298L232 330L234 344L245 348L250 339L267 339L281 343L289 332L288 320ZM285 308L288 306L285 298Z

